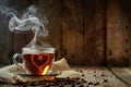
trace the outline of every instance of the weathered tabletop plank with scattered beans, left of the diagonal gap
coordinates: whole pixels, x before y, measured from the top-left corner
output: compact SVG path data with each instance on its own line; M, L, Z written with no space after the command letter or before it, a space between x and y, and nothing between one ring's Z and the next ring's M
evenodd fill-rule
M127 87L107 67L79 67L85 74L90 87Z

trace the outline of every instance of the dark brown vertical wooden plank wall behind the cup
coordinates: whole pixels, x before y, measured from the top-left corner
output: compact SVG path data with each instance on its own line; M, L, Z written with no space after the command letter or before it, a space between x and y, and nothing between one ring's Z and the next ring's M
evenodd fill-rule
M128 0L4 1L4 5L17 10L19 16L27 7L37 5L40 20L46 16L49 21L46 26L49 35L44 40L56 48L56 60L64 57L72 65L129 65L131 17L127 14L131 9L130 4L127 7ZM2 22L0 63L9 63L7 60L14 52L21 52L33 34L12 34L2 26Z

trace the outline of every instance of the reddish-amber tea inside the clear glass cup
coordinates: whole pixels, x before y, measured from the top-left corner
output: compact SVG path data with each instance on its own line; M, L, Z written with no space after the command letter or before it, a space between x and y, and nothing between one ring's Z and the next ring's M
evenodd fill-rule
M48 74L52 60L53 53L24 54L25 66L34 75Z

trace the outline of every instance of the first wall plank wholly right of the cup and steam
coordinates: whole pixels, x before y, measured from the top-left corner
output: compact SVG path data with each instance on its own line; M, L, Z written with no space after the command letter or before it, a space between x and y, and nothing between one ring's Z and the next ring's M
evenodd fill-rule
M84 65L83 0L62 0L62 55L72 65Z

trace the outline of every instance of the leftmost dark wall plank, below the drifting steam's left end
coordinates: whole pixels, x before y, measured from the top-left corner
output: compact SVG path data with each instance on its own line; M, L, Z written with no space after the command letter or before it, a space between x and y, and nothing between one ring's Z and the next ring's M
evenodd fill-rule
M0 63L9 63L9 53L12 50L12 34L8 29L7 18L0 13Z

